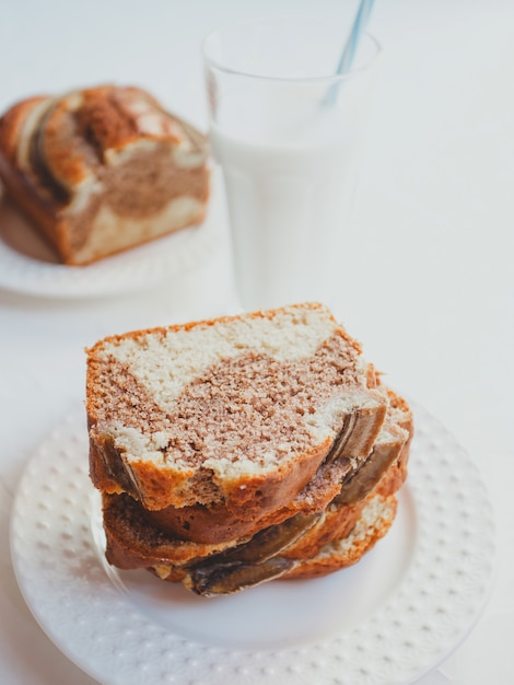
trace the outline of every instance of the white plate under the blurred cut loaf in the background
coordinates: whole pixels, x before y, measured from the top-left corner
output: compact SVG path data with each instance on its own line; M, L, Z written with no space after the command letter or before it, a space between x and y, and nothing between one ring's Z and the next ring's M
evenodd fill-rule
M215 185L215 184L214 184ZM46 297L84 298L135 292L205 263L220 244L219 193L202 224L84 267L58 264L44 240L0 188L0 288Z

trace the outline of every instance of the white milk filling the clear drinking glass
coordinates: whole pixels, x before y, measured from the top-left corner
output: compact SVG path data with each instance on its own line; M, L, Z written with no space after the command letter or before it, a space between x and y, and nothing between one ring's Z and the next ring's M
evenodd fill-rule
M330 304L350 230L358 136L340 111L319 101L297 116L300 108L273 102L271 111L260 107L255 116L245 107L223 129L211 125L242 304Z

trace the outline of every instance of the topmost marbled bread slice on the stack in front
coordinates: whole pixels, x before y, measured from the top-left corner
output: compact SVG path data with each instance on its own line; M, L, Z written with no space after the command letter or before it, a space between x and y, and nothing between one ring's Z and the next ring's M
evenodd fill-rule
M279 506L358 411L365 457L387 405L360 345L318 304L106 338L87 352L86 395L92 451L127 476L95 485L149 509L256 495Z

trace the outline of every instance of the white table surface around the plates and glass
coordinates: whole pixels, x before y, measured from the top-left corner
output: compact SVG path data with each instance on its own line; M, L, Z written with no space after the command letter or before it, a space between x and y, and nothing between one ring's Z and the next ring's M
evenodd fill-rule
M201 37L241 18L344 0L48 0L0 8L0 108L25 95L138 83L205 128ZM336 313L388 381L448 428L493 501L498 571L465 641L420 685L514 682L514 3L378 0L384 57ZM341 35L343 35L341 33ZM34 446L83 398L100 337L210 316L232 295L225 225L212 259L157 288L58 300L0 290L0 683L92 685L26 607L9 553ZM396 685L396 684L394 684Z

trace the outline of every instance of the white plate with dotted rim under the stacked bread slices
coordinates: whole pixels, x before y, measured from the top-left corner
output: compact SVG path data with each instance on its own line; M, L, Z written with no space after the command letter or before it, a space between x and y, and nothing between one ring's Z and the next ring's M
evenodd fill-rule
M12 512L11 552L35 618L108 685L408 683L467 635L491 584L491 508L463 449L414 405L410 475L389 534L344 571L198 597L103 559L79 413L39 445Z

